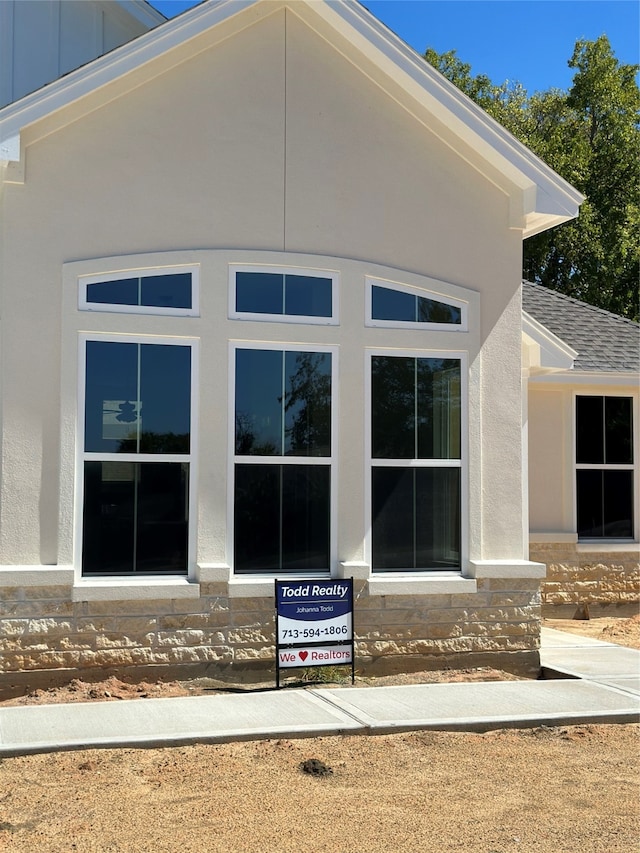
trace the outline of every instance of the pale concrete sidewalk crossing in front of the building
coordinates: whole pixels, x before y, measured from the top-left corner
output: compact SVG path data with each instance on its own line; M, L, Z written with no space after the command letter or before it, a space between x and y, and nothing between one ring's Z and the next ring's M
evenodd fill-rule
M640 652L543 628L551 680L313 688L0 708L0 756L274 737L636 722Z

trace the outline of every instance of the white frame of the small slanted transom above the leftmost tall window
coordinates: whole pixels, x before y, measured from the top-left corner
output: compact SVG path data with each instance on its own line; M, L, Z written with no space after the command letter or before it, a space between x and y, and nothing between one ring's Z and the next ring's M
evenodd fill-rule
M149 278L156 275L191 275L191 308L170 308L157 305L118 305L112 302L89 302L87 288L106 281L124 281L130 278ZM167 317L198 317L200 315L200 265L136 267L119 269L99 275L78 276L78 309L80 311L109 312L110 314L152 314Z

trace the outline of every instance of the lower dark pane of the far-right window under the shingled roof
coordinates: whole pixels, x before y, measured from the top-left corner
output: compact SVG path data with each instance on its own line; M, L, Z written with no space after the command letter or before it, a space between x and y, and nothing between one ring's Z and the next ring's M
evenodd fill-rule
M633 536L633 472L576 471L578 536Z

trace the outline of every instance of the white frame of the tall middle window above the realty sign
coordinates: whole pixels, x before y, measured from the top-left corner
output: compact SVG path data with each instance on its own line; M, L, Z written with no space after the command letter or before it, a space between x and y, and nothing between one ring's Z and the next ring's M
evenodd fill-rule
M247 350L275 350L276 352L327 352L331 354L331 454L329 456L244 456L235 452L236 444L236 351ZM294 577L327 577L333 576L338 565L338 354L337 346L327 346L311 343L274 343L273 341L247 341L231 340L229 342L229 467L227 482L227 562L232 567L234 579L248 580L251 578L265 579L285 575L287 578ZM285 572L282 569L273 572L260 572L252 575L247 572L235 572L235 466L236 465L322 465L328 466L329 488L329 566L326 572Z

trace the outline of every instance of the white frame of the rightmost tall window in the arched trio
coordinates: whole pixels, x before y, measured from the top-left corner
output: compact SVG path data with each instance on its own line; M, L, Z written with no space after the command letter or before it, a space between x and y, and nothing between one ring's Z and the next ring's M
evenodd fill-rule
M421 324L422 325L422 324ZM374 356L401 358L446 358L460 362L460 459L378 459L372 455L372 383L371 364ZM421 350L367 347L365 351L365 559L371 566L374 579L402 577L460 577L469 556L469 367L468 353L461 350ZM373 514L372 514L372 470L373 468L458 468L460 469L460 566L455 569L420 568L376 571L373 565Z

